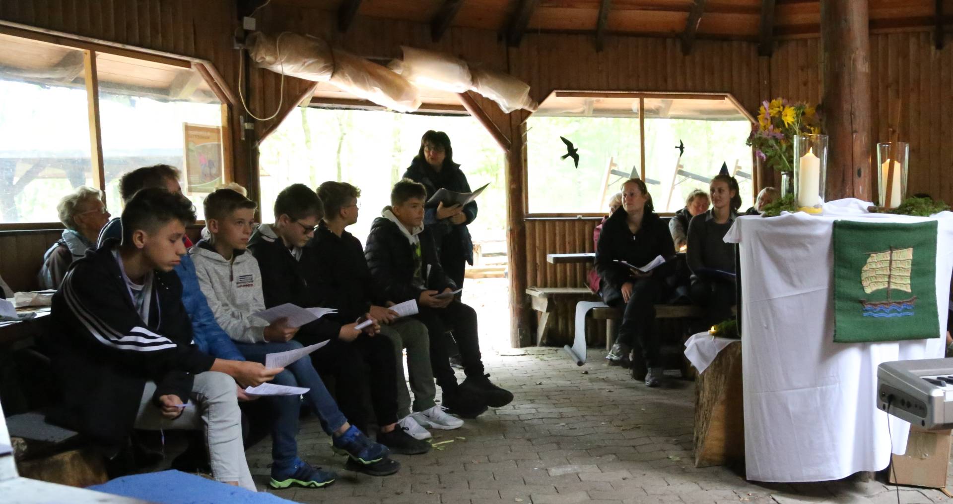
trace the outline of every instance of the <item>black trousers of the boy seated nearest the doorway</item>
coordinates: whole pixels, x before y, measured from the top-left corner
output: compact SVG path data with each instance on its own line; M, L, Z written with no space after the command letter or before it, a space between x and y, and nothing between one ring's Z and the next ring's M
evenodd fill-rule
M427 308L420 306L415 315L427 326L430 334L430 365L434 370L436 384L444 392L456 390L456 375L450 367L450 356L456 339L463 371L468 377L483 375L483 359L479 352L479 338L476 331L476 311L470 306L455 300L446 308ZM453 331L453 336L448 333Z

